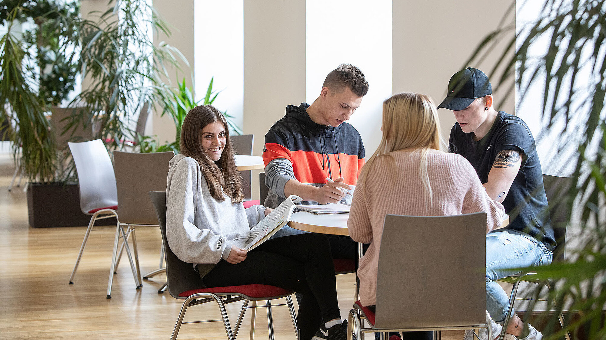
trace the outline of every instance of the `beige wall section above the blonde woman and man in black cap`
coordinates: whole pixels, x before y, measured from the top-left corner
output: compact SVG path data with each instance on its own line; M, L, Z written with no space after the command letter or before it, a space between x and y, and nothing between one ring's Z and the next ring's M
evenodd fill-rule
M510 1L481 0L393 1L393 91L428 94L439 105L450 77L464 67L482 38L497 28L510 5ZM483 62L470 66L490 77L503 46L497 45ZM494 77L491 83L496 110L514 114L513 97L499 105L507 88L496 88ZM448 140L456 120L450 110L442 108L438 114L442 136Z

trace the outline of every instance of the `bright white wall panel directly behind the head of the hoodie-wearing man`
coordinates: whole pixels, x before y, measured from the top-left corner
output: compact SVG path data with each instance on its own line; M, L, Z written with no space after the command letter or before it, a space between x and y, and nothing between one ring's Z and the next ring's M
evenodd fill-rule
M307 102L318 98L339 64L359 67L368 93L348 123L360 132L369 157L381 142L382 102L391 96L391 0L307 0L306 22Z

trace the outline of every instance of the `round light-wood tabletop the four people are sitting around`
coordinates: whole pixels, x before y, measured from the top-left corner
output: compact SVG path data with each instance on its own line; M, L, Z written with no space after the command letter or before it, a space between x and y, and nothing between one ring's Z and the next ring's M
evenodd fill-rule
M307 211L299 211L291 216L288 226L293 229L320 234L349 235L347 230L348 219L349 214L312 214ZM507 227L508 224L509 215L505 214L503 223L496 229Z

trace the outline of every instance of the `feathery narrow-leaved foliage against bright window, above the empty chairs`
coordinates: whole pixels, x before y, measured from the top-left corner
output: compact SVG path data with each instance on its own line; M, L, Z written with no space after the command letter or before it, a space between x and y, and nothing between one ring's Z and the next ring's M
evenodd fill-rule
M101 126L98 136L109 148L122 148L122 141L135 135L129 127L144 103L168 108L173 93L164 83L167 67L179 69L187 60L176 48L153 43L151 33L170 35L167 24L145 0L117 0L104 12L94 12L96 21L83 20L82 74L91 83L75 101L85 103L87 117Z

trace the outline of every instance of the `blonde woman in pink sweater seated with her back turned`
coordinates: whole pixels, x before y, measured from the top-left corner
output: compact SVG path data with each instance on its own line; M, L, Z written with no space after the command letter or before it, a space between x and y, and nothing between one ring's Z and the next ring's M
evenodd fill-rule
M470 163L441 150L438 113L429 96L399 93L385 100L381 129L381 143L362 168L348 220L351 238L370 243L358 277L360 301L371 309L376 304L386 214L445 216L484 211L487 233L501 225L505 214L501 203L488 197ZM429 339L431 332L405 336Z

